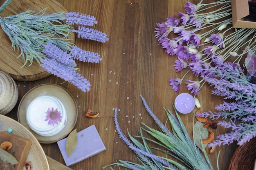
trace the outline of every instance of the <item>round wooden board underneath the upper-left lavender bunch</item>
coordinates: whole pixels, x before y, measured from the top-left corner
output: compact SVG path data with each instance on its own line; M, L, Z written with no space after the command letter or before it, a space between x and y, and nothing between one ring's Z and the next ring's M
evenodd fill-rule
M0 5L5 0L0 0ZM0 13L1 17L18 14L27 10L40 12L47 8L45 14L66 11L64 7L55 0L12 0ZM74 34L70 36L74 42ZM24 62L18 49L11 49L11 41L2 29L0 29L0 70L9 74L13 79L19 81L34 81L49 76L34 60L33 64L22 67ZM22 67L22 68L21 68Z

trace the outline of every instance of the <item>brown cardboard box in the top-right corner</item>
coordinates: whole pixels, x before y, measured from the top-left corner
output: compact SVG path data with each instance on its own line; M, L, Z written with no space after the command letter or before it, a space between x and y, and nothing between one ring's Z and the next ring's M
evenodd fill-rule
M248 0L231 0L232 22L235 28L256 28L256 22L245 21L243 18L249 15Z

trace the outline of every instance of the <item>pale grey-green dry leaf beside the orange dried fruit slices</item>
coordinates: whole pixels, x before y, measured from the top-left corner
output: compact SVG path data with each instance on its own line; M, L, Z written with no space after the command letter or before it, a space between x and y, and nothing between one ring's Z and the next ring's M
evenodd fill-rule
M194 125L194 142L200 150L206 148L207 144L202 143L202 139L206 139L209 136L207 128L204 127L200 121L196 121Z

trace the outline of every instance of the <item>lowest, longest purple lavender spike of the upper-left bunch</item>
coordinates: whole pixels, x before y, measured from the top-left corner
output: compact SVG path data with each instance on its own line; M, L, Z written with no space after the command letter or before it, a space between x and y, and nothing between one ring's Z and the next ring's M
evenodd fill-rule
M40 62L42 63L42 68L48 73L56 75L57 77L60 77L67 82L74 84L83 92L90 91L90 82L79 73L76 73L76 70L74 70L74 68L63 65L60 62L49 59L47 57L42 58Z

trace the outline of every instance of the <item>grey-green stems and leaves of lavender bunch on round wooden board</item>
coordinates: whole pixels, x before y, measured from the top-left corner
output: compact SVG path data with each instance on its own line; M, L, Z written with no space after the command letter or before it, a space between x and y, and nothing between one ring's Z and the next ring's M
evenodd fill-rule
M51 15L32 11L25 11L17 15L0 17L2 30L9 36L12 49L20 50L20 56L24 61L32 64L33 59L40 63L40 59L45 56L42 53L42 44L52 42L64 51L71 49L72 43L68 40L70 25L63 24L59 18L64 16L63 12Z

